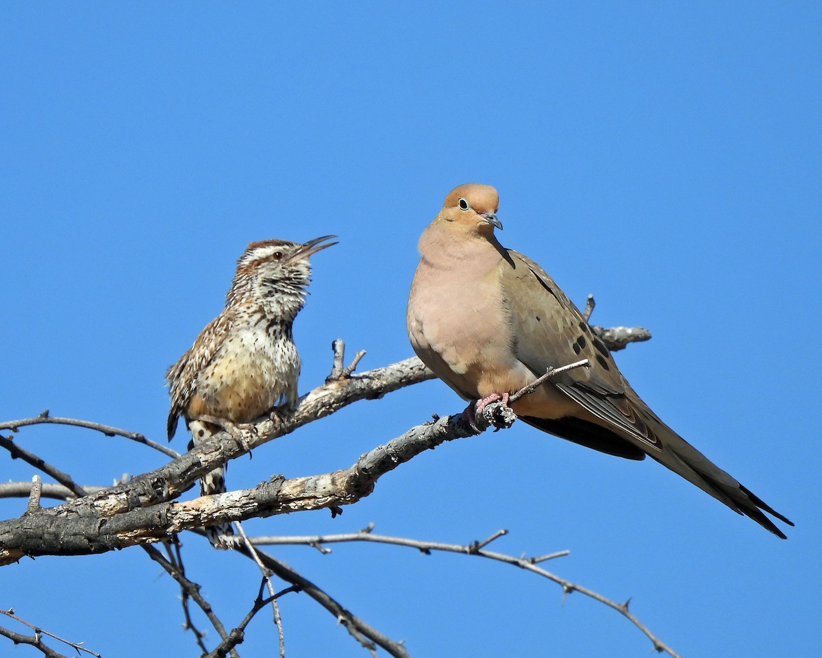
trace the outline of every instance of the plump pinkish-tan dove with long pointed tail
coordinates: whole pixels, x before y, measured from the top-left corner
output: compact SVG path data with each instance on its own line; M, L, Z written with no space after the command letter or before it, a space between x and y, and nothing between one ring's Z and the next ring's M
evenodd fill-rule
M469 417L490 401L534 382L547 368L581 359L510 404L525 423L585 447L631 460L646 456L778 537L765 515L793 523L714 465L650 410L620 373L580 310L529 257L504 248L494 229L495 188L460 185L418 243L406 327L414 352L469 404Z

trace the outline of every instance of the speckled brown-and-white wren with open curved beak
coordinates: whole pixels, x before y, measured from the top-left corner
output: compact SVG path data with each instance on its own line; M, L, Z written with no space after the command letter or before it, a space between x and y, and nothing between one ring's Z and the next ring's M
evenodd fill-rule
M336 244L326 242L336 237L248 245L237 262L225 308L165 375L171 397L169 441L180 416L196 445L220 429L203 418L250 423L281 401L285 408L296 404L300 356L292 326L310 282L308 257ZM224 468L206 473L200 491L204 496L224 493ZM238 546L230 523L206 527L205 535L215 548Z

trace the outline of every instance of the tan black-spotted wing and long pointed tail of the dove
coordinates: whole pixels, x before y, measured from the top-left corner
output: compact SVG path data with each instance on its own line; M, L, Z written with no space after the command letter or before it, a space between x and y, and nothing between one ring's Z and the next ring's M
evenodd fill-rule
M510 251L513 267L501 274L514 325L515 353L534 374L588 359L545 386L554 386L587 413L564 419L523 419L539 429L602 452L632 459L652 456L732 510L744 513L784 538L765 512L775 512L667 427L640 399L617 368L603 342L554 280L535 262ZM590 415L598 419L592 422ZM604 425L604 426L603 426Z

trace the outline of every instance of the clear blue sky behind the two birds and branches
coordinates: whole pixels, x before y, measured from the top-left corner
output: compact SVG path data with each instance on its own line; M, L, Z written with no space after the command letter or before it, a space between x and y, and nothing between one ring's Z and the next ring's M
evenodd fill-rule
M295 327L301 392L325 378L337 337L367 350L362 368L404 359L418 235L451 188L490 183L502 243L578 304L595 294L593 322L652 332L617 354L623 373L796 521L789 539L661 466L524 424L418 457L333 521L247 530L373 522L467 543L506 528L495 549L570 549L553 571L631 597L683 656L810 655L822 642L820 27L812 2L6 4L0 418L48 407L162 440L165 368L219 313L252 240L339 235L313 259ZM440 382L361 402L232 463L229 485L349 466L463 406ZM162 463L81 430L16 440L85 484ZM2 480L33 475L2 464ZM15 517L23 502L0 506ZM190 577L237 623L256 568L184 541ZM372 545L274 552L415 658L652 653L611 610L563 604L506 565ZM156 638L196 655L177 588L136 549L25 560L2 569L0 592L0 607L104 655L142 656ZM305 595L281 609L287 655L366 655ZM270 655L268 619L242 656Z

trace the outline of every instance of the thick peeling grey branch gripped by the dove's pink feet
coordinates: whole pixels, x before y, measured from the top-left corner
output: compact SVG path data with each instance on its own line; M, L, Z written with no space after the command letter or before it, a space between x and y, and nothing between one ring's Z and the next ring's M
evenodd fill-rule
M348 382L355 380L346 380ZM339 383L339 382L338 382ZM309 394L309 397L312 394ZM304 403L303 403L304 404ZM299 414L302 405L295 411ZM487 405L477 415L474 425L479 431L489 426L509 427L516 415L501 403ZM265 421L262 424L266 424ZM285 416L280 426L293 424L293 416ZM259 427L259 425L257 425ZM446 441L473 436L476 430L463 415L452 415L435 422L418 425L408 432L391 439L360 456L353 466L332 473L307 477L284 479L282 475L272 477L252 489L241 489L228 493L201 496L180 503L158 503L146 507L132 507L119 513L101 506L108 501L110 492L117 491L122 498L117 502L129 503L141 494L138 476L126 484L100 492L93 497L65 503L58 507L44 509L36 522L22 523L19 519L0 521L0 564L19 559L22 555L42 554L94 554L107 550L122 549L135 544L146 544L163 540L169 534L193 530L202 526L212 526L228 521L243 521L252 517L270 517L276 514L300 512L311 509L330 508L356 503L369 495L376 480L400 464L404 464L419 453L432 449ZM218 433L215 437L232 440L228 434ZM253 434L243 430L243 437L253 442ZM173 464L195 463L186 461L202 452L219 449L212 437L206 439L187 455L173 461ZM242 442L244 443L244 441ZM239 449L239 448L237 448ZM202 461L200 461L202 463ZM208 462L206 462L208 463ZM191 466L192 470L197 470ZM157 472L162 472L159 469ZM136 484L135 484L136 483ZM174 480L158 483L171 489ZM127 493L126 493L127 492ZM156 489L150 493L157 495ZM123 497L123 494L125 496ZM86 503L83 512L75 512L79 503ZM67 512L72 509L72 513ZM101 519L106 522L100 523ZM44 537L54 540L44 541ZM59 538L59 540L57 540Z

